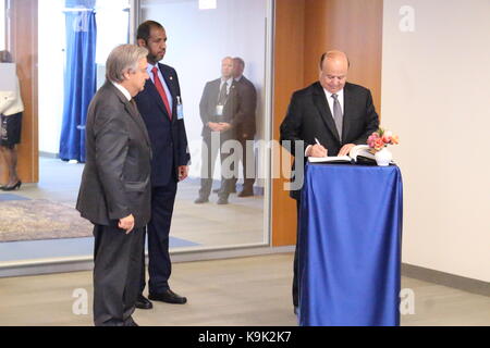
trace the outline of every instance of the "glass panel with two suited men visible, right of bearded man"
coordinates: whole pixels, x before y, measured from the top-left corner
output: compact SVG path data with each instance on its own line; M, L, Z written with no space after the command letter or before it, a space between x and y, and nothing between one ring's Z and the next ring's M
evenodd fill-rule
M176 249L268 243L265 228L266 17L268 1L142 1L161 23L161 61L179 74L191 152L170 236Z

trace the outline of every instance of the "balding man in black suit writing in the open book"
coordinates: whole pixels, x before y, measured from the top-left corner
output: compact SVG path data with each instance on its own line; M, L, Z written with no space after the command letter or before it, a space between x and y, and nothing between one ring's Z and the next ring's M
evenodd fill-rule
M303 160L307 157L344 156L355 145L366 144L368 136L378 129L379 120L371 92L362 86L346 83L347 71L346 54L329 51L320 59L319 82L293 94L281 124L281 142L290 140L282 145L291 153L298 153L296 147L299 146L301 153L304 153ZM303 152L304 146L306 149ZM297 170L303 171L303 167ZM290 195L296 199L299 210L301 190L292 190ZM295 252L295 308L298 306L297 272Z

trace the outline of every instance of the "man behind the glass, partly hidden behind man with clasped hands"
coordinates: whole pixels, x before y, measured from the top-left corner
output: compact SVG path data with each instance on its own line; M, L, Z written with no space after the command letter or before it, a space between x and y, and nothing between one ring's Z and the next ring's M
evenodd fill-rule
M243 164L243 188L238 192L238 197L254 196L255 183L255 153L254 153L254 136L255 126L255 109L257 107L257 91L254 84L243 75L245 62L236 57L233 59L233 78L237 90L238 110L235 115L234 134L235 139L241 144L243 152L238 157ZM248 154L248 156L247 156ZM248 160L254 162L248 163ZM237 163L236 163L237 164ZM234 179L235 186L237 177Z

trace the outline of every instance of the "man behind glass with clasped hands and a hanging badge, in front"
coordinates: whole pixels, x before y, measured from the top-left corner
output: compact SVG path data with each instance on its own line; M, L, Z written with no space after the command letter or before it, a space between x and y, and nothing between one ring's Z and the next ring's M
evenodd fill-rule
M199 197L195 203L209 201L212 186L215 161L220 152L221 164L233 156L233 148L223 151L222 146L233 139L235 115L238 102L233 80L233 59L226 57L221 61L221 77L208 82L200 98L199 111L203 121L203 160ZM224 175L224 171L230 171ZM221 187L218 191L218 204L228 204L228 198L233 191L233 167L221 166Z

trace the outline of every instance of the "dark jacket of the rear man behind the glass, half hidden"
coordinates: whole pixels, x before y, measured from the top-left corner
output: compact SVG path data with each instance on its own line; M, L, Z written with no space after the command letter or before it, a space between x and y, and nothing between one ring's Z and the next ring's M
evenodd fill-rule
M238 99L238 110L235 115L235 134L247 134L253 138L256 133L255 110L257 108L257 91L254 84L242 75L235 82Z

